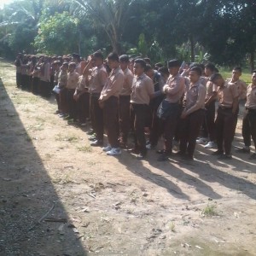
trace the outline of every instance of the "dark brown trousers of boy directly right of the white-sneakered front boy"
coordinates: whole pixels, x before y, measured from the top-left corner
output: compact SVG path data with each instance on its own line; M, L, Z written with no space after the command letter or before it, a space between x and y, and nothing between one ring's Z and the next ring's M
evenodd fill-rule
M120 142L127 143L131 129L130 103L131 96L119 96L119 133Z

